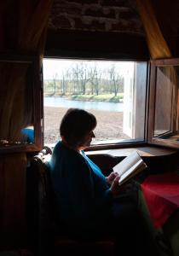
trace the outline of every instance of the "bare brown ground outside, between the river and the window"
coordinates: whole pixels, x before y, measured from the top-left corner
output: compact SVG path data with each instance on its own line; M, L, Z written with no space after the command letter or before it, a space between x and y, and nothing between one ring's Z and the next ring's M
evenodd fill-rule
M56 143L59 127L67 108L44 107L44 143ZM98 125L95 128L95 141L128 139L123 133L123 112L89 110L95 114Z

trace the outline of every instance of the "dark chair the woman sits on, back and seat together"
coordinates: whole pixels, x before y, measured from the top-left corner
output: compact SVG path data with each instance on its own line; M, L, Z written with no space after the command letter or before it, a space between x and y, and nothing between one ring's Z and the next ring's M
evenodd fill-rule
M61 234L55 232L55 201L49 178L51 150L43 148L32 158L29 174L29 219L33 253L37 256L113 256L113 238L101 241L76 241L66 236L61 224ZM28 193L27 193L28 194ZM59 226L58 226L59 227Z

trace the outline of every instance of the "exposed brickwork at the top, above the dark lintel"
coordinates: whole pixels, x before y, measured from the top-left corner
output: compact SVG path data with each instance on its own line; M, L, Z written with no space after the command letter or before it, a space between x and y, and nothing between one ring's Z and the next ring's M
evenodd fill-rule
M143 35L134 0L55 0L49 29Z

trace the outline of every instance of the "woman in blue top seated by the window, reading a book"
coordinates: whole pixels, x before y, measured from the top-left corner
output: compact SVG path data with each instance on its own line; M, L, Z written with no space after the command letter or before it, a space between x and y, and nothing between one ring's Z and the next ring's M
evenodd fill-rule
M92 113L78 108L70 108L61 120L61 141L49 163L59 223L69 237L89 241L114 236L120 255L147 255L135 201L121 196L117 173L105 177L84 153L96 123Z

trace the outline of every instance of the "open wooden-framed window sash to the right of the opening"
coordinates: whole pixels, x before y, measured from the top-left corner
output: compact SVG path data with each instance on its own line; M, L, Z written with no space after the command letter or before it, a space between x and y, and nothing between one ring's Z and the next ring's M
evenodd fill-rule
M179 59L151 61L148 142L179 148Z

